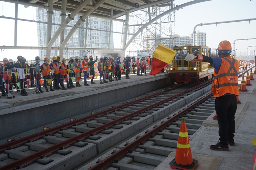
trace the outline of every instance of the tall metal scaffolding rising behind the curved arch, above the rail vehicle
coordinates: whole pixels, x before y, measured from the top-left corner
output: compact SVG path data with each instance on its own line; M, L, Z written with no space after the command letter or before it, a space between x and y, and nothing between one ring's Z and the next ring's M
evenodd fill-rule
M129 40L144 24L148 23L152 17L156 17L163 12L174 7L173 1L161 5L151 6L142 10L130 13L128 35ZM147 12L145 12L147 10ZM166 16L159 17L158 20L151 23L146 29L130 43L127 52L129 56L136 56L138 51L143 51L146 55L151 54L157 44L161 43L169 48L175 44L175 12Z

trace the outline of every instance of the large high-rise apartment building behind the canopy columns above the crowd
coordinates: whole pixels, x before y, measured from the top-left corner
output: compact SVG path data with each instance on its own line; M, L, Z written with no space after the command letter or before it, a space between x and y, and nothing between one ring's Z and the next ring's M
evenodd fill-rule
M60 11L54 11L53 14L53 23L61 23L61 12ZM79 15L76 15L74 17L74 20L70 21L68 25L75 25L75 23L79 20ZM45 10L38 10L36 9L36 20L47 22L47 14ZM85 27L86 22L83 22L80 27ZM105 21L105 19L95 18L95 17L88 17L88 28L91 29L97 29L97 30L87 30L87 36L86 36L86 47L92 47L92 48L107 48L108 45L108 36L109 36L109 25L110 20ZM55 34L55 32L58 30L60 26L59 25L52 25L52 36ZM65 37L67 36L68 32L71 30L71 27L65 27ZM39 46L46 46L46 24L44 23L37 23L37 30L38 30L38 45ZM104 30L104 31L99 31ZM112 31L112 30L111 30ZM59 38L58 37L53 46L57 47L59 46ZM85 29L76 29L72 37L68 40L66 47L84 47L85 43ZM113 33L110 33L110 48L114 47L113 44ZM39 57L41 59L44 58L44 52L45 50L39 50ZM58 50L52 50L51 51L51 57L58 56ZM82 57L83 54L86 53L88 56L92 55L92 51L87 50L64 50L63 51L63 57L68 59L68 57L72 56L79 56ZM62 56L61 56L62 57Z

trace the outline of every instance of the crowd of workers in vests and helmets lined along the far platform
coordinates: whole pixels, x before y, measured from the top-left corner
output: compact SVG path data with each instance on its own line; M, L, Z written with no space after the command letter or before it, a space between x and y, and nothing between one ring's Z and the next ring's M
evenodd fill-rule
M42 64L40 64L43 62ZM90 84L95 84L95 76L100 76L100 84L108 83L113 80L121 80L121 73L124 71L126 79L130 79L129 73L138 76L147 75L150 72L151 56L148 57L123 57L118 54L116 59L110 56L98 57L93 60L92 56L83 55L80 57L69 57L68 63L66 59L60 56L52 57L52 59L44 58L43 61L40 57L35 57L34 64L28 65L26 58L22 56L17 57L17 62L12 59L4 58L0 70L0 90L1 96L6 96L12 90L20 92L20 95L27 96L25 87L36 87L36 92L43 93L41 85L45 88L46 92L55 90L67 90L75 87L81 87L80 78L83 77L83 85L90 86L87 79L90 79ZM97 68L97 69L96 69ZM108 81L107 81L108 79ZM76 85L73 85L75 80ZM28 84L27 82L30 81ZM53 81L53 83L52 83ZM67 88L64 86L64 81ZM52 85L53 84L53 85ZM60 87L60 86L61 87ZM50 89L47 88L50 87ZM9 90L8 90L9 89Z

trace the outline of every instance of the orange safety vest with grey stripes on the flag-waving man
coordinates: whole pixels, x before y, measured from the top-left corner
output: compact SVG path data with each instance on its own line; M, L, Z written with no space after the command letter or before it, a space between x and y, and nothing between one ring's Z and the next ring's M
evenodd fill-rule
M211 85L211 93L214 97L220 97L227 93L238 95L238 61L231 57L221 59L220 70L218 73L214 71L214 83Z

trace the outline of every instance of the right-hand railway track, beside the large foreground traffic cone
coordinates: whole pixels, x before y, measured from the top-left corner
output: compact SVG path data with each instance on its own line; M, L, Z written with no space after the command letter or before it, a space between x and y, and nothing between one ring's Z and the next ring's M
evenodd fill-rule
M153 170L176 150L181 117L191 137L214 111L214 98L208 93L167 118L141 132L138 136L109 151L79 170Z

